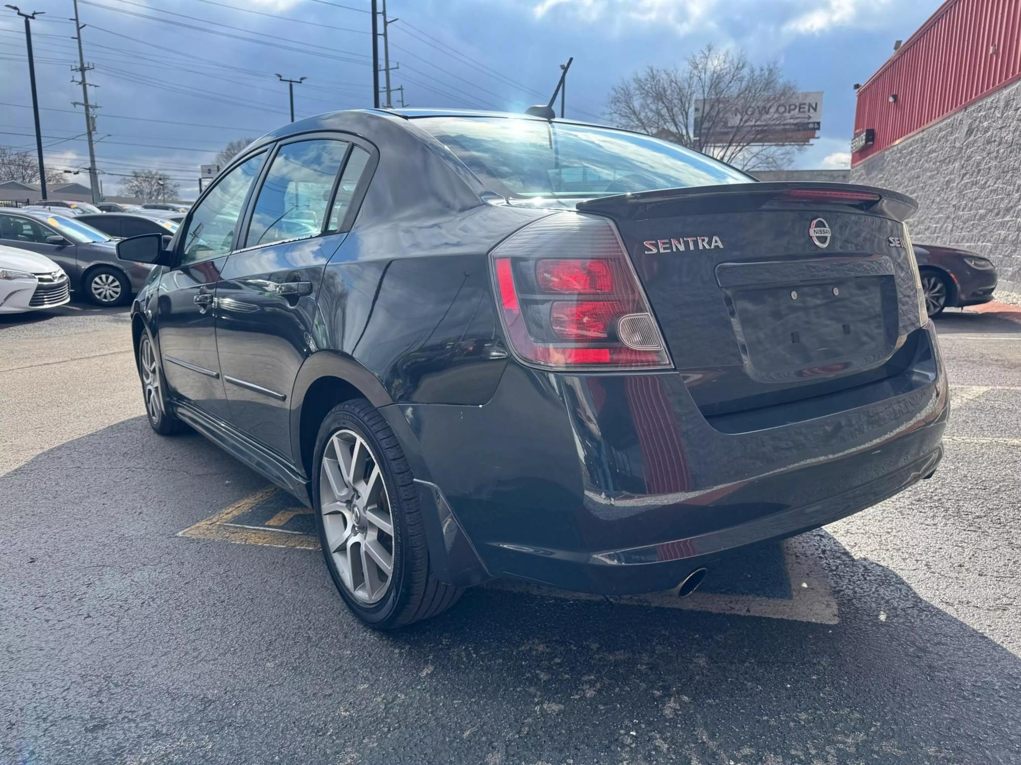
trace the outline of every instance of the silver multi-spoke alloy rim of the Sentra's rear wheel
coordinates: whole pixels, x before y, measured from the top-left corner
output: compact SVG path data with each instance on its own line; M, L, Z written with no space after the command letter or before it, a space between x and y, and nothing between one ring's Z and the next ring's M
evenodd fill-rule
M353 430L338 430L327 443L320 512L345 589L361 603L378 603L393 576L393 515L379 460Z

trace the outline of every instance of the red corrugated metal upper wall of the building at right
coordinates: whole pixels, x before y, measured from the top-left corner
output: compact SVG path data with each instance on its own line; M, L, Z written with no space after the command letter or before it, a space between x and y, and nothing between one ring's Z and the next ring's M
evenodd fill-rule
M859 89L855 133L876 135L852 164L1018 78L1021 0L947 0Z

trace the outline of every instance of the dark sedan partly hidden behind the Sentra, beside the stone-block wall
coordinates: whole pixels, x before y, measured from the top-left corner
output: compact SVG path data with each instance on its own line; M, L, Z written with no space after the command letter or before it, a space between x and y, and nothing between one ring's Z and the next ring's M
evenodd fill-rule
M996 267L988 258L938 245L915 245L915 257L930 316L942 313L944 308L964 308L992 300Z

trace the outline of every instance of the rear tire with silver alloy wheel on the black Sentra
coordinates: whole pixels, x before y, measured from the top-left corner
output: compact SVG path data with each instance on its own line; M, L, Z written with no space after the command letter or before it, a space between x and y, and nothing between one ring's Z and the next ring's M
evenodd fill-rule
M375 407L334 407L315 440L312 499L320 546L348 608L376 629L435 616L461 590L436 579L411 469Z

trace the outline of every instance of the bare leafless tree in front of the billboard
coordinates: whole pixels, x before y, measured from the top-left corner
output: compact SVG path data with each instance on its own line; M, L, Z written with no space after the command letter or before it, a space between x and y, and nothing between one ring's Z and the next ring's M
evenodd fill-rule
M777 105L796 94L777 63L707 45L682 66L649 66L615 85L615 124L672 141L744 170L787 167L804 145L774 143L788 117Z

